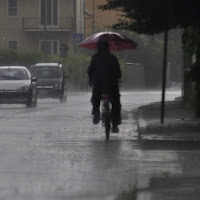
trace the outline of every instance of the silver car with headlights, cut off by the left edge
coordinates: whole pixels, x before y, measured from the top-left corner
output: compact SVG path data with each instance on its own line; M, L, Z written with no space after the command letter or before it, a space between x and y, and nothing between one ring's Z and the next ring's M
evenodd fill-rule
M26 104L36 107L36 78L25 66L0 67L0 104Z

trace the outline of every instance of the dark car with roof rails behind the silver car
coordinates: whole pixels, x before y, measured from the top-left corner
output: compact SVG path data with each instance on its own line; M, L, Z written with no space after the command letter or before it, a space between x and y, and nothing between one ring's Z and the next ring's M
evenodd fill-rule
M60 102L67 100L67 82L60 63L37 63L31 66L32 76L37 78L39 98L56 98Z

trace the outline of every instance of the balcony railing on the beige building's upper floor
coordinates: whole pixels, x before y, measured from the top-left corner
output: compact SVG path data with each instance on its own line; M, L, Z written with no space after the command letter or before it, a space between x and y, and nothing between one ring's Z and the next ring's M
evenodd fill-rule
M40 17L24 17L23 18L24 31L44 31L44 20ZM50 23L47 21L46 31L72 31L73 18L59 17L57 22Z

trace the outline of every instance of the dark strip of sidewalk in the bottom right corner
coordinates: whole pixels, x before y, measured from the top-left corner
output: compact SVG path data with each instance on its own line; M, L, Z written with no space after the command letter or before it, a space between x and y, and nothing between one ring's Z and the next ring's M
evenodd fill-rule
M151 200L199 200L200 177L153 177L149 188L138 190L140 199ZM148 195L150 194L150 195Z

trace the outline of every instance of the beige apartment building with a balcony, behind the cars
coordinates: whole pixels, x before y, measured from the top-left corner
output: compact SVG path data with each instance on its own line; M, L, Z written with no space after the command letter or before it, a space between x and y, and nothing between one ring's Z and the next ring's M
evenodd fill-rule
M54 55L74 34L84 32L84 0L1 0L0 49L42 51Z

